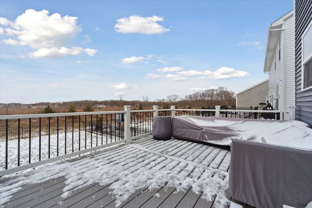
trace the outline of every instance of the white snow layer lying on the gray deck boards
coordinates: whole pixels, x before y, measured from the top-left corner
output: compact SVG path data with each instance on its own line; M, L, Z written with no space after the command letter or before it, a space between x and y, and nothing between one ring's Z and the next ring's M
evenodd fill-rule
M141 139L130 145L103 151L73 162L37 167L0 184L0 203L10 201L22 186L64 176L62 199L73 191L99 183L109 185L118 207L135 191L173 187L191 190L219 207L231 202L226 197L230 152L190 141ZM158 195L156 195L158 197ZM60 204L63 202L60 201Z

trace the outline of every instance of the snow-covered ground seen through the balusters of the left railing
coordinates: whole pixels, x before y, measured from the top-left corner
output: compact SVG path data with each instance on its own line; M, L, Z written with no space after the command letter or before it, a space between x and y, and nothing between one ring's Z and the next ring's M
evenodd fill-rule
M92 147L99 146L101 144L111 143L115 141L115 136L113 138L107 138L106 134L98 135L80 131L74 132L74 138L72 132L66 133L66 146L65 146L65 134L60 133L59 139L57 134L50 135L50 146L49 137L41 136L41 142L39 142L39 136L31 138L31 162L39 161L39 144L40 144L40 155L41 160L49 158L49 148L50 148L50 158L56 157L58 155L71 153L79 150L79 133L80 133L80 150L88 149ZM85 137L86 136L86 137ZM86 138L86 139L85 139ZM119 138L116 137L116 140ZM58 144L59 142L59 144ZM92 144L92 145L91 145ZM74 150L73 150L74 148ZM5 141L0 142L0 169L5 168ZM20 139L20 165L29 163L29 138ZM18 139L8 141L8 167L18 166Z

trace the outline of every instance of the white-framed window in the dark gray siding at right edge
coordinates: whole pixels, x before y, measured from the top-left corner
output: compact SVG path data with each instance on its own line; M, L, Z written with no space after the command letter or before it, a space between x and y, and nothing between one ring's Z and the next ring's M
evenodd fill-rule
M301 74L302 90L312 89L312 22L308 25L301 38Z

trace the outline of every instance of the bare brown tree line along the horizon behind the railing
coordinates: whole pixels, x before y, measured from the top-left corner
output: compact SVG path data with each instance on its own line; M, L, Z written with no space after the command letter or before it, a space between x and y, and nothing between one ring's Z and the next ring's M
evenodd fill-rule
M148 96L142 96L142 100L80 100L80 101L66 101L56 103L37 103L35 105L46 105L42 113L55 113L53 108L66 108L66 112L74 113L79 111L90 112L97 110L95 106L105 105L105 109L101 110L123 110L124 105L131 105L134 110L151 109L153 105L157 105L159 109L169 109L174 105L176 108L199 109L221 106L235 106L234 92L228 90L226 87L218 87L217 89L210 89L195 92L184 97L179 95L168 95L166 98L156 99L150 101Z

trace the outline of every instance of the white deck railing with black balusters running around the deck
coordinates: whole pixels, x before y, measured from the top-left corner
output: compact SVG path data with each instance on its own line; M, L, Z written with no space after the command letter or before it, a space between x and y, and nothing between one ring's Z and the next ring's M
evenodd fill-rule
M130 144L153 132L155 116L214 116L253 119L294 119L290 111L158 109L0 115L0 176L111 145ZM287 114L287 116L286 116ZM268 116L270 115L270 116Z

